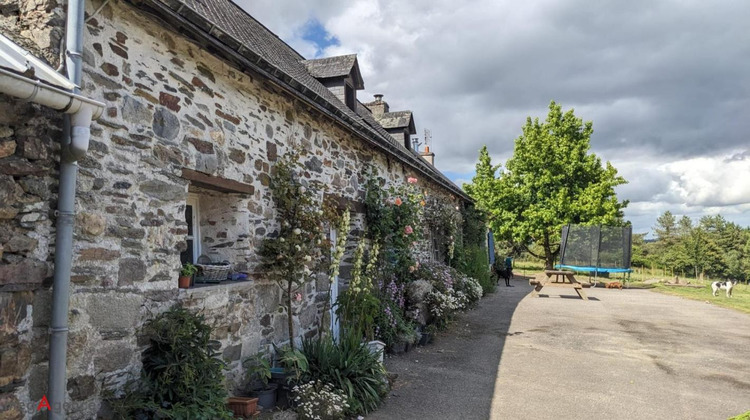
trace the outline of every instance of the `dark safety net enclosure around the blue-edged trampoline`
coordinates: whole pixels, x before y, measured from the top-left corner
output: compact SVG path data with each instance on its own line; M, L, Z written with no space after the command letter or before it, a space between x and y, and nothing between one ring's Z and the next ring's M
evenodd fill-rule
M564 226L560 266L587 271L629 272L632 233L630 226Z

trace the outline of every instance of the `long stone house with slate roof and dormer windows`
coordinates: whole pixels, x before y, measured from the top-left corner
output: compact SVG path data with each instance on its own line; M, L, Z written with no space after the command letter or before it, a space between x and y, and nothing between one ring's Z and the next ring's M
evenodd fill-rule
M57 0L0 0L0 12L3 45L60 64L66 13ZM102 415L102 391L138 372L138 327L176 302L215 323L235 386L244 358L285 340L280 291L255 267L279 223L269 174L290 147L307 152L306 178L359 212L355 234L369 167L385 185L413 176L450 205L469 202L411 147L410 111L390 112L382 96L357 100L364 81L354 55L305 60L229 0L96 1L86 12L80 94L104 106L77 161L71 418ZM17 77L73 86L45 77L43 64L23 72L7 63L0 70ZM61 112L0 92L0 418L23 418L47 392L65 128ZM430 255L429 244L419 248ZM178 289L181 262L200 255L230 261L251 281ZM324 289L305 292L295 325L309 337Z

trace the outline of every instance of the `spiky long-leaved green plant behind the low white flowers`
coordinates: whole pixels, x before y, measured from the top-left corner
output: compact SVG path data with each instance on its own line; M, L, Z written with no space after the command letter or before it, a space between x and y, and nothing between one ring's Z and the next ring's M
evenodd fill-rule
M347 415L375 410L388 392L385 368L378 355L351 331L345 330L338 343L327 336L305 340L302 352L309 362L303 382L317 380L343 390L349 404Z

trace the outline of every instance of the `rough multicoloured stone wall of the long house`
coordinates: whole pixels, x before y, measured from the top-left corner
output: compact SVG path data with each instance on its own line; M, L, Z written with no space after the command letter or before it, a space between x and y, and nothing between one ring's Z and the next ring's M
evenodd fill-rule
M39 22L58 13L43 10ZM39 31L56 33L61 23ZM89 21L85 46L83 94L107 109L79 163L70 418L96 417L102 391L138 373L139 326L178 301L216 325L230 384L241 386L241 361L287 337L285 315L277 311L280 291L255 272L256 250L278 223L268 188L278 156L303 147L304 177L354 201L364 194L363 168L378 168L386 186L413 174L125 3L110 2ZM0 96L0 407L7 408L0 418L20 418L19 404L35 407L46 392L60 127L58 113ZM196 188L181 177L183 168L254 191ZM424 179L420 185L447 195ZM248 270L252 281L177 289L189 191L201 196L204 249ZM361 233L362 217L354 220ZM428 250L426 243L418 247L422 255ZM295 309L301 335L318 333L324 285L308 285Z

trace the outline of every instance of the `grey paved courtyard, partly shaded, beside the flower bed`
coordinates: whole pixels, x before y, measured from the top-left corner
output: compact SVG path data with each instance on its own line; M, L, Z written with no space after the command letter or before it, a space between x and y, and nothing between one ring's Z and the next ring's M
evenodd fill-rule
M750 316L648 290L587 289L584 302L570 289L531 298L526 281L513 284L432 345L387 360L399 377L368 418L726 419L750 410Z

